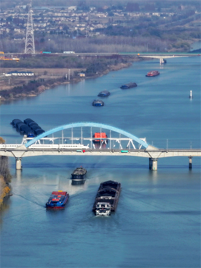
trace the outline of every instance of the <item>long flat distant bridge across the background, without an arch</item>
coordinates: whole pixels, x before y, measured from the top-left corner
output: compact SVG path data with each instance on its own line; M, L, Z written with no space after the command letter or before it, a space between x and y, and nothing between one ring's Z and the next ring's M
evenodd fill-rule
M41 54L41 53L35 53L32 54L32 56L37 55L37 54ZM4 55L8 55L8 56L18 56L20 57L20 55L24 55L24 53L5 53ZM44 54L41 54L44 55ZM107 52L102 52L102 53L69 53L69 54L65 54L65 53L49 53L49 54L45 54L45 55L57 55L57 56L129 56L129 57L147 57L147 58L158 58L160 60L160 64L164 64L166 63L166 59L167 58L174 58L174 57L199 57L200 54L197 53L154 53L154 52L150 52L150 53L136 53L136 52L118 52L118 53L107 53Z

